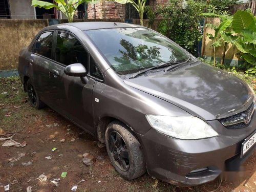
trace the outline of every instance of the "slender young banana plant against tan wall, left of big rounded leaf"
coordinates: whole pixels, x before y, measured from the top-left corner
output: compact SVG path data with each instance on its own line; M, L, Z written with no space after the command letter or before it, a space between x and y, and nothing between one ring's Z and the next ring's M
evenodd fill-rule
M223 46L223 43L224 43L224 50L223 50L222 59L221 59L221 64L223 65L226 48L229 41L227 41L227 39L226 41L223 40L222 34L225 34L226 36L229 36L231 38L232 32L230 32L231 30L230 27L231 27L233 17L230 15L218 15L215 13L202 13L201 15L205 17L219 17L221 19L221 23L219 26L214 24L206 24L205 27L209 27L215 30L214 35L207 33L208 38L211 39L211 47L214 48L214 67L216 67L216 49Z

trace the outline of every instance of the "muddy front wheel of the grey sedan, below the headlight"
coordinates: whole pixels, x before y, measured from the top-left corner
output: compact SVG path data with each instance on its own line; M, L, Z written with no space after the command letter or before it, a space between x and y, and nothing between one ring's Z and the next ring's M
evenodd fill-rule
M111 122L106 128L105 141L111 163L123 178L132 180L146 172L142 147L126 125Z

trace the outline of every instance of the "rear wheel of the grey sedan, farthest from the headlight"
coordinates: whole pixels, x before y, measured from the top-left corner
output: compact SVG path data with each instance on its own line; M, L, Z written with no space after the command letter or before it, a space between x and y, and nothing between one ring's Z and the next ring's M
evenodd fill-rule
M31 105L33 106L33 108L39 110L39 109L42 109L45 107L45 103L39 99L37 92L34 89L34 86L30 79L28 80L28 82L26 84L26 90L28 93L29 101L30 101Z

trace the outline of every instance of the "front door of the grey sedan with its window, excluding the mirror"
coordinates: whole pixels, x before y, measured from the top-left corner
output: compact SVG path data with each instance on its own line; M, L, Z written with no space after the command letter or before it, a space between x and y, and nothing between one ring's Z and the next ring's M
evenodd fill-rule
M88 76L89 82L83 84L80 77L64 73L65 68L73 63L82 63L88 70L88 52L74 34L58 31L54 60L50 65L53 108L93 134L92 90L95 79Z

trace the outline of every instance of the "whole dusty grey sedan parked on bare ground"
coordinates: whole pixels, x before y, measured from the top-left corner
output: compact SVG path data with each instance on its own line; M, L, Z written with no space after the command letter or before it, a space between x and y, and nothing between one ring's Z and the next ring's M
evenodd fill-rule
M18 72L32 105L92 134L125 179L198 185L255 150L248 84L142 26L46 27L20 51Z

